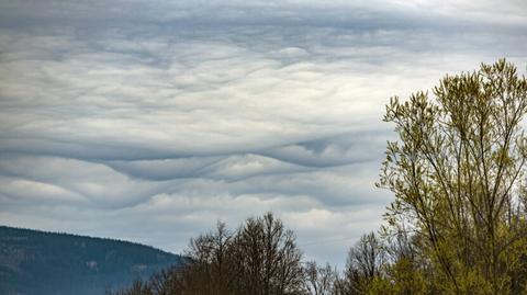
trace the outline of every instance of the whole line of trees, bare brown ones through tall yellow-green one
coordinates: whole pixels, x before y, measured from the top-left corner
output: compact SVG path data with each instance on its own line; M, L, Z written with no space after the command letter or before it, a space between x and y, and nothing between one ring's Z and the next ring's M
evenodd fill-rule
M395 200L343 274L302 262L267 214L235 232L218 224L191 240L182 268L117 294L527 294L527 81L498 60L445 77L433 94L386 105L397 140L377 185Z

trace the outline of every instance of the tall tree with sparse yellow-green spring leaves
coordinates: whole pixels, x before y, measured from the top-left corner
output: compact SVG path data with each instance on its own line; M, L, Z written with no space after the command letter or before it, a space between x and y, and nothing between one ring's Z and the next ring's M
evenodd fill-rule
M395 194L386 219L422 241L441 293L517 294L527 249L527 81L498 60L445 77L433 94L386 106L399 137L379 182Z

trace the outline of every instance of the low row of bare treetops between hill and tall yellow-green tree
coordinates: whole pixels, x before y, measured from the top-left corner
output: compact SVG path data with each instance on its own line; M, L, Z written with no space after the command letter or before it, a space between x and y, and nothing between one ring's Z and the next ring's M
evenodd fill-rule
M431 268L417 240L370 232L350 248L346 269L304 261L292 230L271 213L231 231L191 239L186 260L109 295L431 294Z

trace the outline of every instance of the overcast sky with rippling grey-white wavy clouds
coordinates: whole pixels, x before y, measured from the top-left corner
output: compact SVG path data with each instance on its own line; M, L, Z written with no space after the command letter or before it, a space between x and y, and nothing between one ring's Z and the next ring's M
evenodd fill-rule
M526 47L523 0L0 0L0 224L180 253L273 212L341 266L390 98Z

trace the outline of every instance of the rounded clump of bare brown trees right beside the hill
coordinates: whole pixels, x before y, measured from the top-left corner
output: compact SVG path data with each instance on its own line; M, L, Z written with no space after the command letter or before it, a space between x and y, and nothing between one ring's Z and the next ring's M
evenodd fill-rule
M234 232L218 223L191 239L186 257L182 265L116 294L301 294L304 288L295 236L272 214L249 218Z

